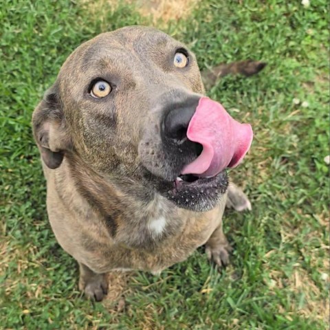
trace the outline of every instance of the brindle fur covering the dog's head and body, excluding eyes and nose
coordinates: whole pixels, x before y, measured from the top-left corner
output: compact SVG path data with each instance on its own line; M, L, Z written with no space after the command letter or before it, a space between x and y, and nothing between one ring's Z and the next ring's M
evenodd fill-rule
M139 154L148 138L143 152L153 173L177 175L177 155L164 159L160 148L159 115L171 99L181 102L204 94L192 53L189 69L171 67L181 47L151 28L100 34L67 58L33 113L52 230L78 261L79 287L90 298L102 300L107 294L104 275L111 270L157 273L184 261L203 244L219 266L228 263L230 246L221 222L229 203L225 186L212 210L179 208L157 192L157 179L146 172ZM113 97L93 100L87 95L91 80L98 77L113 83ZM247 198L236 189L229 188L243 199L230 206L241 208ZM164 221L164 228L151 230L152 221Z

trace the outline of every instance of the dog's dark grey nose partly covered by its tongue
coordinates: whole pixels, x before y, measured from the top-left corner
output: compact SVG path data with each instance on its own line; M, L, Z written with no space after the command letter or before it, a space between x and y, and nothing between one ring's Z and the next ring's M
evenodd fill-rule
M189 122L198 106L199 97L191 97L183 102L168 104L162 125L166 139L180 143L186 140Z

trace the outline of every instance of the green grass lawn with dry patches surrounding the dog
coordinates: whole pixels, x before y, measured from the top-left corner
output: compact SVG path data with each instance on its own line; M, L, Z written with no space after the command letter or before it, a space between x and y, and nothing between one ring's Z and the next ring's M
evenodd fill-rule
M228 76L208 91L254 127L248 157L230 171L253 210L225 216L234 253L222 274L201 248L160 276L113 275L123 309L78 292L76 262L47 221L30 118L75 47L153 19L102 0L0 5L1 329L328 329L327 1L207 0L168 21L166 32L190 45L201 68L268 63L259 76Z

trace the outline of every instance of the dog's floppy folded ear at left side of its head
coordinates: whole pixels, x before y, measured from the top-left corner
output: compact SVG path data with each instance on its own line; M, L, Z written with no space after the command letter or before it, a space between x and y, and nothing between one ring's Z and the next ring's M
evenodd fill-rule
M56 85L46 91L43 100L34 109L32 126L43 162L49 168L58 168L65 151L72 148L72 142Z

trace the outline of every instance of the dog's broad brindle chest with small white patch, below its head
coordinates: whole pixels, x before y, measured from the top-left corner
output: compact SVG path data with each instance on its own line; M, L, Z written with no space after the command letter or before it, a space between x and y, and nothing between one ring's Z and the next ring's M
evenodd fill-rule
M54 191L52 184L48 188ZM135 204L133 213L123 208L115 236L76 193L65 199L49 194L47 208L58 242L94 272L118 268L159 272L206 243L221 222L224 201L203 213L170 208L159 201L144 208Z

